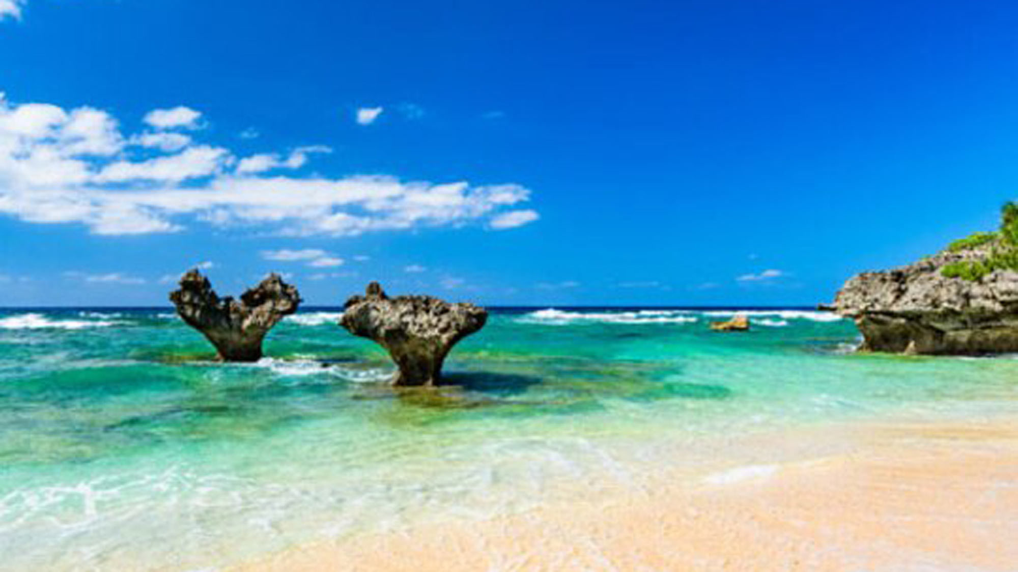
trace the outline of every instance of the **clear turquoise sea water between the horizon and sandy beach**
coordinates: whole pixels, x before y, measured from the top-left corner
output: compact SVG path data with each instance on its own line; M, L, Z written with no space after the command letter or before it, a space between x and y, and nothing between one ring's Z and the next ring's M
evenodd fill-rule
M244 365L168 309L0 310L0 569L215 569L823 453L739 447L766 432L1018 411L1018 360L855 355L850 322L807 310L708 331L731 313L495 310L448 387L395 391L338 310Z

